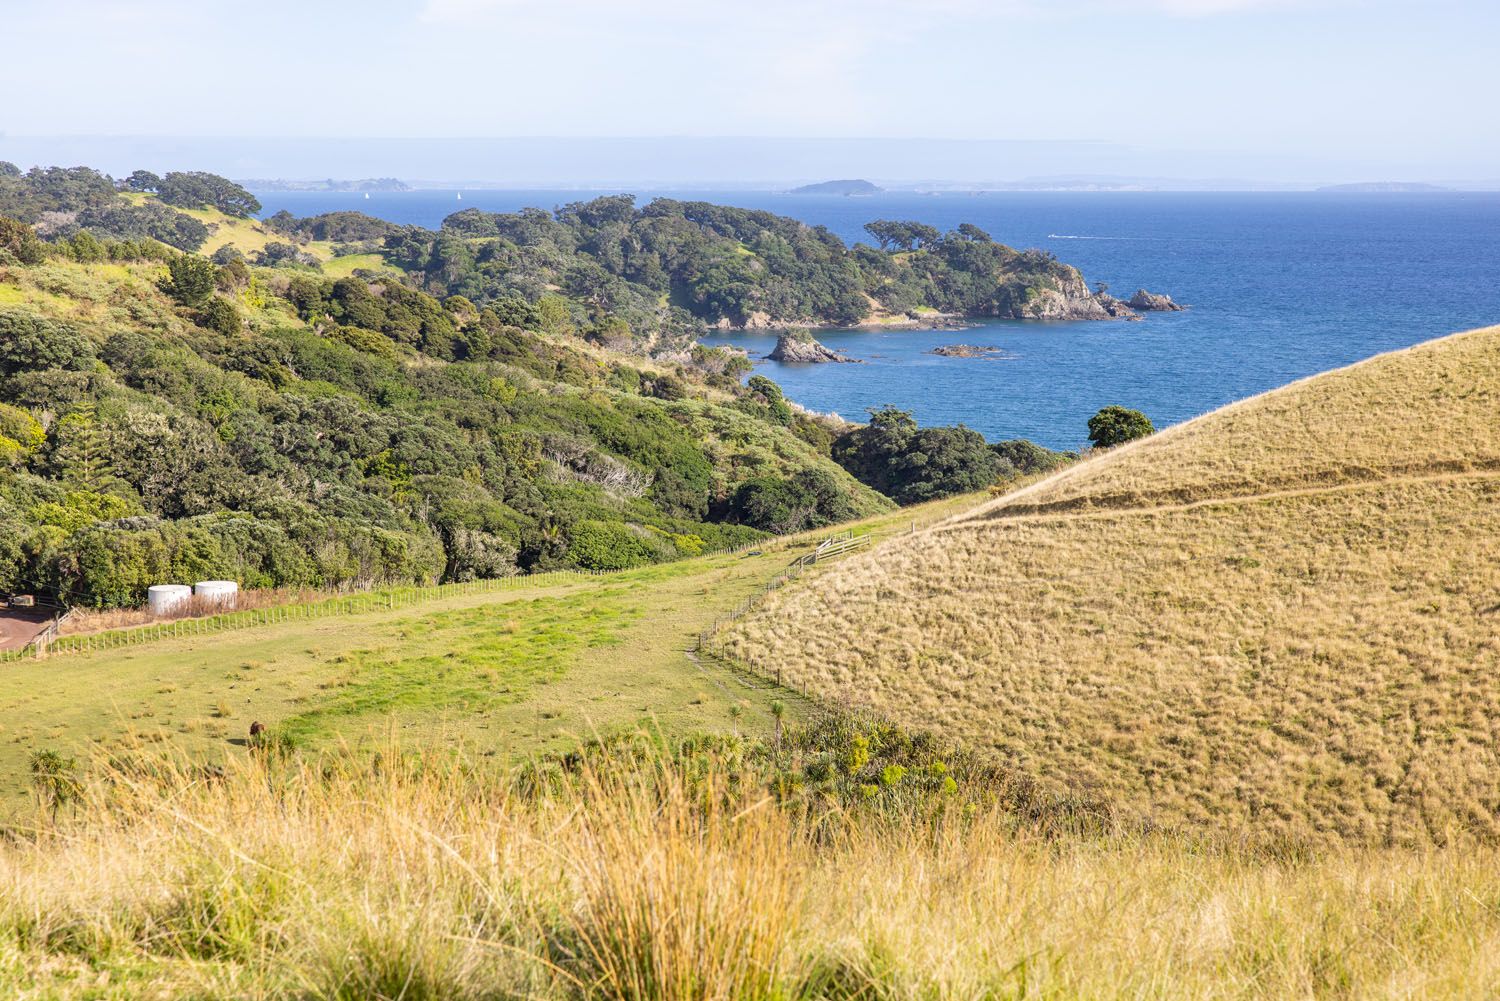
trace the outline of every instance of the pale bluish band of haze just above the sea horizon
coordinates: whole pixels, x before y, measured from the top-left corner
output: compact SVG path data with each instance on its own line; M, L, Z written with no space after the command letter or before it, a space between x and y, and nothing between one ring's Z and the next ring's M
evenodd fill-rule
M598 189L614 186L777 189L831 179L891 188L1005 191L1026 186L1140 186L1162 191L1299 191L1344 183L1500 189L1485 162L1287 156L1168 149L1106 140L501 135L298 137L0 132L0 159L20 167L207 170L236 179L314 182L394 177L423 186Z

